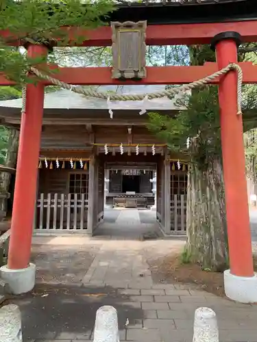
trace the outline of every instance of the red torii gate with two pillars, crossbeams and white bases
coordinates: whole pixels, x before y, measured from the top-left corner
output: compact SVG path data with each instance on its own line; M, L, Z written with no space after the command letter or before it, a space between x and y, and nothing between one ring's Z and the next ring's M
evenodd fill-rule
M7 36L8 32L0 32ZM72 29L69 32L73 40ZM82 33L81 33L82 34ZM85 31L84 46L110 46L111 29L101 27ZM88 39L89 38L89 39ZM147 44L206 44L216 49L217 64L204 66L148 67L147 77L140 81L119 81L111 78L110 68L60 68L57 79L74 85L103 84L180 84L190 83L237 62L240 42L257 41L257 21L236 23L149 25ZM29 45L29 57L47 54L43 45ZM241 63L244 83L257 83L257 66ZM51 66L56 68L56 66ZM230 270L225 271L225 293L240 302L257 302L257 276L254 274L252 243L249 228L245 155L243 145L243 120L237 113L236 72L221 77L219 104L221 108L221 143L225 182L225 203L228 222ZM2 75L1 86L14 84ZM21 120L19 154L12 213L12 228L8 266L1 269L14 293L24 293L34 287L35 265L29 263L36 201L36 182L40 133L42 127L44 86L46 81L27 85L25 114ZM16 285L15 285L16 282Z

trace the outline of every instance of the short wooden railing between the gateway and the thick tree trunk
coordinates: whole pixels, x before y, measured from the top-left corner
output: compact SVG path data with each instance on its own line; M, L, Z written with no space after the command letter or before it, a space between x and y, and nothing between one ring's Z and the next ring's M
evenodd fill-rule
M171 200L171 234L186 234L186 195Z

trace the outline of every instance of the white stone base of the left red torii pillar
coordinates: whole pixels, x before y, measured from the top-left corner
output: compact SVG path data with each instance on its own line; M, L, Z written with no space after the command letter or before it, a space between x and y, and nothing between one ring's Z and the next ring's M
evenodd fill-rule
M14 295L32 291L36 282L36 265L29 263L27 268L9 269L7 265L0 268L1 278L8 283Z

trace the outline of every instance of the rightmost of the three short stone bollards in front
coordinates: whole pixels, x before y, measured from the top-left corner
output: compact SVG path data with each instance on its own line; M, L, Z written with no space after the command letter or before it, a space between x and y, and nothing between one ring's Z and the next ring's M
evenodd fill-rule
M211 308L195 310L193 342L219 342L216 313Z

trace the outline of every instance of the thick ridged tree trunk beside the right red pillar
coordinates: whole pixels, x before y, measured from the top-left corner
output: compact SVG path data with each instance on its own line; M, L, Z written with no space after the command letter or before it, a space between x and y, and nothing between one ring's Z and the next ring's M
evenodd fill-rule
M187 258L204 269L223 272L228 268L228 238L221 161L208 169L191 163L186 204Z

